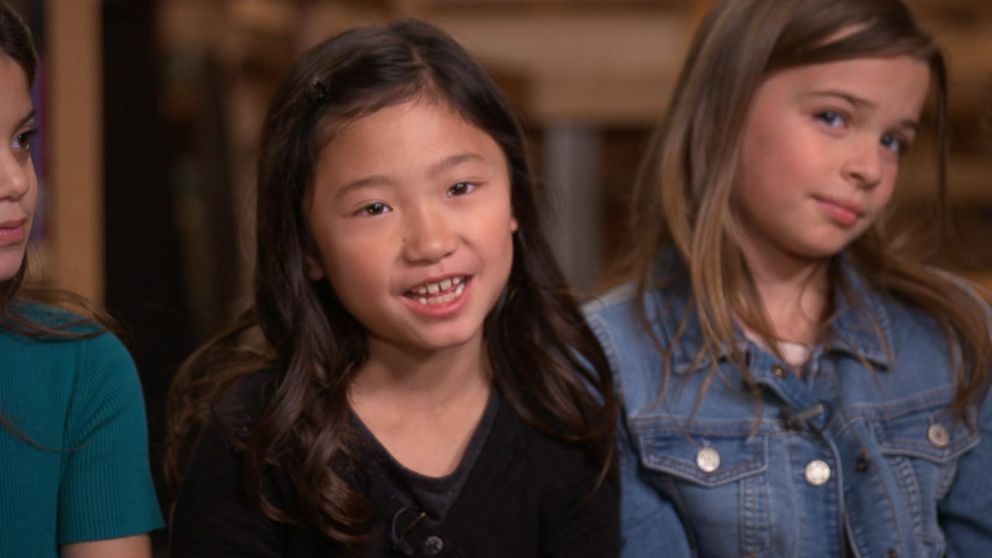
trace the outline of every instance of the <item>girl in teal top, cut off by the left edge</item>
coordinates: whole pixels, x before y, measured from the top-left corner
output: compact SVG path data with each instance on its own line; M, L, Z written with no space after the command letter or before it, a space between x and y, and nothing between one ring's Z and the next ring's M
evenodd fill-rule
M0 3L0 556L149 557L162 518L134 363L78 297L21 287L36 68L29 31Z

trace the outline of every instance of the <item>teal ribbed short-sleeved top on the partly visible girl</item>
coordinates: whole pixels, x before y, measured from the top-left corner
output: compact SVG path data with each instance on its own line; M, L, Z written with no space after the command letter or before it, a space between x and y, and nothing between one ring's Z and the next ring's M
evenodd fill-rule
M0 557L162 527L141 384L116 337L0 330L0 416Z

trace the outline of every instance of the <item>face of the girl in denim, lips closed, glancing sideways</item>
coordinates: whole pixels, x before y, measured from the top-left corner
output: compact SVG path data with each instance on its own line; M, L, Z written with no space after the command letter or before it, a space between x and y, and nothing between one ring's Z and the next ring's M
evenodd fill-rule
M926 63L909 56L769 77L751 104L733 192L749 259L820 259L864 233L892 196L929 81Z

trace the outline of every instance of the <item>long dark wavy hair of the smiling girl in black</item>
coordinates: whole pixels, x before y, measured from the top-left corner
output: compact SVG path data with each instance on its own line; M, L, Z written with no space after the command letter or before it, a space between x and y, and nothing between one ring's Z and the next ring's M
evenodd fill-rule
M166 456L173 488L222 394L246 374L270 369L264 408L244 441L249 497L274 520L304 521L338 541L368 532L374 510L347 481L360 468L347 387L368 357L366 334L326 280L306 277L312 241L303 200L319 142L326 141L318 128L333 131L417 98L452 107L489 134L509 164L519 229L508 284L484 323L495 386L524 420L579 444L604 474L609 470L614 404L608 365L555 263L542 217L547 192L531 174L520 126L491 78L456 42L407 20L317 45L278 88L258 165L254 304L194 353L174 380ZM287 516L261 495L270 465L292 479L302 517Z

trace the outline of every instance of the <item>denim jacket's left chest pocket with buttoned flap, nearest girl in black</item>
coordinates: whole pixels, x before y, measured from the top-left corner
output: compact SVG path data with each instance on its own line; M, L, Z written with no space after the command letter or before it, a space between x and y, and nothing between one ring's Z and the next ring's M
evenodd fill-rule
M768 549L769 436L749 432L751 426L717 434L723 429L665 428L649 420L632 424L642 469L679 508L702 555L757 555Z

